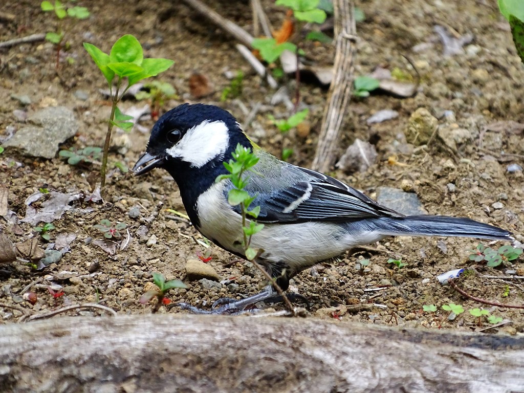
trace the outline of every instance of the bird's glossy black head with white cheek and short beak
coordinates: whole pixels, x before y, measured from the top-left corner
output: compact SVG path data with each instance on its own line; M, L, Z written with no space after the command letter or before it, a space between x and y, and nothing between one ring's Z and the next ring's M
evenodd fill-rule
M133 172L138 176L158 167L171 172L173 167L202 168L210 162L221 163L231 157L238 143L250 147L229 112L214 105L183 104L158 119Z

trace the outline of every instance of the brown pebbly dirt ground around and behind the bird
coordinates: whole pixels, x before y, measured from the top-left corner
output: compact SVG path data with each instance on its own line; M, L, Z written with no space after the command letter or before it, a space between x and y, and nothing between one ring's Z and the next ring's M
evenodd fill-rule
M37 3L3 2L2 13L12 14L14 19L0 20L0 41L56 27L55 19L44 14ZM206 3L252 31L247 1ZM263 130L247 128L246 132L277 156L283 147L292 146L294 155L289 160L301 166L311 165L326 102L325 89L315 84L301 84L302 99L311 110L311 131L302 136L294 132L281 135L267 115L282 116L286 108L282 104L270 104L274 91L239 55L234 39L183 2L135 0L127 2L124 10L121 4L112 0L80 4L89 8L91 17L69 24L65 21L69 29L65 54L73 58L74 63L68 64L62 56L58 75L54 66L55 51L50 43L17 45L0 51L0 96L3 97L0 138L6 138L13 127L16 130L24 126L14 111L31 113L45 106L62 105L74 111L80 126L77 135L62 147L102 146L110 106L99 92L106 88L105 80L83 50L82 42L92 42L108 51L118 37L130 33L143 43L146 56L176 61L159 79L172 83L180 99L168 101L163 110L182 102L205 102L226 108L242 122L246 114L238 101L220 101L221 92L230 84L225 73L242 70L244 89L238 100L248 109L257 103L263 104L256 116ZM264 5L272 24L279 26L285 10L271 1L264 1ZM379 186L400 188L402 184L418 195L430 214L467 216L495 224L515 233L516 239L522 241L524 178L521 170L509 172L507 168L511 164L524 166L524 136L521 129L515 130L506 123L496 129L486 127L498 121L524 123L521 105L524 68L496 2L373 0L356 5L366 16L366 20L357 25L356 74L366 74L377 67L413 73L402 57L404 54L416 65L421 82L417 94L407 99L377 93L352 101L340 140L341 149L355 138L370 140L377 149L378 159L362 173L336 170L330 174L372 197L376 196ZM433 30L435 25L443 26L454 38L472 34L473 40L464 46L463 53L445 57L442 43ZM315 47L308 43L305 49L314 64L326 65L333 58L330 46ZM213 86L214 92L202 99L190 95L188 80L195 72L205 75ZM281 83L288 84L290 92L294 91L292 78ZM79 91L87 93L85 101L78 98ZM13 94L27 95L30 104L23 106L10 98ZM132 105L144 103L127 100L122 107ZM451 129L468 131L464 138L455 141L455 151L446 148L439 138L428 148L407 143L403 130L419 107L427 108L438 118L439 125L447 122ZM396 110L399 116L368 125L366 119L382 109ZM141 124L150 128L154 123ZM110 160L133 167L147 140L147 132L134 130L129 135L115 132ZM29 195L40 188L62 193L88 192L92 174L97 169L96 165L72 167L58 155L49 160L39 159L6 148L0 155L0 184L8 191L8 210L13 211L17 219L23 219ZM216 246L212 246L209 264L219 274L221 285L205 283L209 287L206 288L202 282L185 277L186 261L195 259L197 253L205 253L205 248L194 240L203 239L189 222L173 219L174 214L166 210L183 212L177 185L166 172L155 170L145 177L134 178L129 172L112 169L105 195L103 203L85 202L83 198L71 202L71 209L53 222L56 229L50 232L50 243L59 235L75 235L69 245L70 252L57 263L36 270L24 262L31 255L19 255L19 260L0 265L0 323L17 322L24 313L45 313L63 305L88 302L98 302L121 314L150 313L151 303L140 304L139 298L151 288L154 271L168 279L182 279L187 284L187 289L171 290L171 300L203 308L209 308L221 297L255 293L264 285L256 269ZM161 208L159 202L163 203ZM496 202L500 204L494 208ZM33 207L38 209L39 203L41 201ZM131 218L128 213L134 206L138 206L139 215L132 214L135 218ZM117 245L113 255L96 242L103 237L94 225L103 219L127 224L130 234L127 247L120 249ZM35 233L33 225L0 217L0 230L13 243L32 238L38 243L37 248L48 247ZM466 299L436 280L436 276L445 271L471 268L473 272L459 280L459 287L491 302L524 304L524 282L522 277L516 278L524 276L524 258L508 266L488 268L485 262L468 259L470 250L477 244L478 241L468 238L389 238L302 272L292 280L290 290L309 299L309 318L470 331L478 329L478 319L467 310L483 307L491 315L510 321L488 333L524 332L522 309L492 307ZM357 269L357 259L362 257L370 260L367 271ZM387 263L389 258L399 257L406 264L401 269ZM49 286L57 291L61 286L64 296L53 299ZM36 304L25 299L24 293L28 291L36 293ZM441 309L447 303L461 304L466 312L449 320L449 312ZM424 312L422 306L431 304L436 305L438 311ZM162 307L159 312L167 310ZM172 308L168 312L180 311ZM486 328L489 323L484 319L482 325Z

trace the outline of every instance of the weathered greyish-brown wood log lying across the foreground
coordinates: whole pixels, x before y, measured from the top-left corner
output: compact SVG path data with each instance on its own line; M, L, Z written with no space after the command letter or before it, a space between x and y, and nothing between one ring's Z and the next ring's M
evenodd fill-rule
M299 318L54 318L0 326L0 391L523 392L524 337Z

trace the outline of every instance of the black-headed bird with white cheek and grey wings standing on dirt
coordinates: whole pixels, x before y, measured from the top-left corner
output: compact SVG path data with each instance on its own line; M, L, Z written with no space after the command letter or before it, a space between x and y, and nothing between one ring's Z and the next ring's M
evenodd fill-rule
M228 173L223 163L232 158L237 145L258 157L245 191L255 198L252 206L260 206L256 221L264 228L253 235L251 246L263 250L256 261L283 291L301 271L388 236L514 240L511 232L468 218L405 216L333 177L282 161L253 143L236 118L215 105L186 103L163 114L152 127L146 152L133 172L140 176L155 168L165 169L178 184L196 230L245 258L239 242L243 237L241 211L227 200L233 183L215 181ZM275 295L270 284L246 299L219 301L211 311L185 303L183 308L234 313Z

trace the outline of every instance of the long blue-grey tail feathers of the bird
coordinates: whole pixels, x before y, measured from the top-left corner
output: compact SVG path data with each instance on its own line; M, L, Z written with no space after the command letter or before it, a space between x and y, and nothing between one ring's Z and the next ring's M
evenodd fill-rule
M511 232L472 219L414 215L407 217L380 217L375 220L377 230L389 236L457 236L513 241Z

